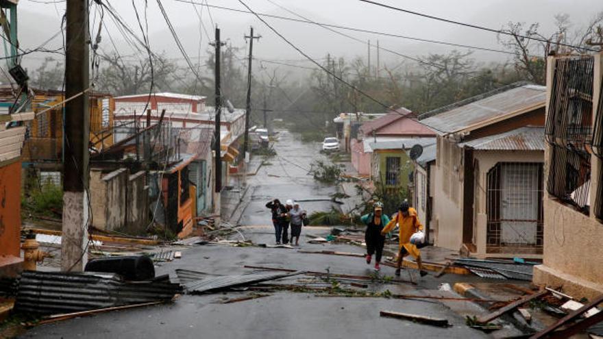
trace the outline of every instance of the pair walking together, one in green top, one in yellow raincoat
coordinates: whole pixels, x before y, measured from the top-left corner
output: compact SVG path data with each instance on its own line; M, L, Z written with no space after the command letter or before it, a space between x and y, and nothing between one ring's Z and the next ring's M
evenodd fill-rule
M399 205L398 212L394 214L391 219L383 213L383 204L378 201L373 203L373 211L362 216L360 220L367 225L365 231L367 264L371 264L374 254L375 270L380 270L385 236L398 226L399 247L395 275L400 275L402 260L409 254L413 255L415 260L417 260L421 277L427 275L427 272L423 270L421 251L419 251L419 248L423 247L425 240L423 225L421 225L421 221L419 221L419 218L417 217L417 211L408 205L408 201L402 201Z

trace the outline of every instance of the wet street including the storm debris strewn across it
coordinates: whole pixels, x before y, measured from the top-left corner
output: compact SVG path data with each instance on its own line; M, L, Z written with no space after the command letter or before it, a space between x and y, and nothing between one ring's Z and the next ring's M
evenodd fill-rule
M303 168L319 145L302 144L295 135L282 131L274 147L278 158L249 177L249 190L238 203L241 225L225 239L230 242L171 245L165 250L179 251L182 258L155 262L157 276L167 274L184 288L174 301L42 321L45 324L28 329L23 338L192 338L201 334L206 338L487 338L484 331L470 327L478 324L467 323L466 317L491 313L480 303L491 305L523 294L493 286L515 284L522 286L520 290L529 290L526 281L486 282L475 275L451 273L434 277L437 268L426 277L407 268L397 278L390 266L383 266L377 273L366 264L364 248L358 245L361 241L350 244L347 240L325 240L332 234L332 227L304 227L299 247L272 248L274 230L269 225L265 201L273 197L328 200L340 189L317 184ZM284 153L287 155L280 159L279 154ZM273 173L285 178L269 176ZM307 202L304 208L327 210L331 205ZM356 238L363 235L362 229L344 232ZM311 243L316 239L322 240ZM424 249L423 260L443 260L445 254L456 256L452 251L434 250ZM245 282L245 276L258 274L267 281ZM228 279L216 281L219 277ZM452 288L457 283L482 285L487 292L481 297L461 295ZM214 289L207 290L208 284ZM410 314L431 322L381 316L381 312ZM523 333L508 321L494 323L500 325L495 327L497 336ZM532 324L535 329L544 326L538 321Z

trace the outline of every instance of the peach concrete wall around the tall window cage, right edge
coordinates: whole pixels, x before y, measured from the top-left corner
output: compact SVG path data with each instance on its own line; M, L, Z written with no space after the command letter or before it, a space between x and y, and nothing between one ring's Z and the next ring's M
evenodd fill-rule
M554 58L549 58L547 69L547 102ZM602 79L602 54L595 55L593 88L593 116L597 112ZM594 118L593 118L594 121ZM550 161L550 149L545 153ZM603 197L598 196L602 161L591 156L591 212L582 214L557 201L549 194L544 197L544 254L543 264L534 268L534 284L563 288L563 292L580 299L593 299L603 294L603 223L598 220L592 206ZM545 182L549 168L545 164Z

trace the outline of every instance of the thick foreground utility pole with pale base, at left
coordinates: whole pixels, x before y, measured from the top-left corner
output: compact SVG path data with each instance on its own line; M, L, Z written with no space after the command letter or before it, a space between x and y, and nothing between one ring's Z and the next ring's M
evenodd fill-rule
M62 271L84 271L88 261L88 1L66 2Z

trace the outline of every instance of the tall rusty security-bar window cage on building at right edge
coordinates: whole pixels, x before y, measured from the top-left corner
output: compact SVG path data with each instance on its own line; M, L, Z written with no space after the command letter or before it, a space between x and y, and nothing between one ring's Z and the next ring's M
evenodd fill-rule
M547 191L582 212L590 205L593 69L591 56L556 60L545 129L551 145Z

